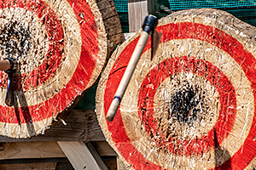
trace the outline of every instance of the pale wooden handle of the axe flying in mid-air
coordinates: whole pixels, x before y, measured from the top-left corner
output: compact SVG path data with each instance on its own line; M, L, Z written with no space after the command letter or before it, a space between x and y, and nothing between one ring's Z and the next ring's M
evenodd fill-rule
M107 119L108 121L112 122L113 117L116 114L116 111L119 108L119 104L121 102L121 99L123 98L123 95L125 94L125 90L131 80L131 76L133 74L133 71L135 70L135 67L137 65L138 59L140 59L141 55L143 54L143 49L145 48L146 43L148 42L149 34L146 31L143 31L141 37L139 38L137 42L137 46L134 49L133 54L131 55L131 59L129 61L129 64L127 65L127 68L125 70L125 74L123 78L121 79L121 82L119 83L119 88L117 89L114 99L108 109Z

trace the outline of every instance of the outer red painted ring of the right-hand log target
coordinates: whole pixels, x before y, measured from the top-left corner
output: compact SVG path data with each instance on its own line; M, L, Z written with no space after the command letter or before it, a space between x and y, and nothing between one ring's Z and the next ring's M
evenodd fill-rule
M186 31L183 31L186 30ZM220 31L217 28L212 26L204 26L198 23L171 23L165 26L158 26L156 31L162 32L161 42L168 42L172 39L187 39L193 38L201 41L206 41L212 45L224 50L226 53L236 60L238 65L241 65L241 69L246 74L249 82L252 84L253 95L254 95L254 116L253 116L253 126L250 129L250 133L247 136L244 144L242 144L241 149L238 150L230 160L216 168L224 169L231 162L234 169L244 169L253 160L256 156L256 136L255 124L256 124L256 59L253 54L250 54L243 45L238 42L234 37L231 37L224 31ZM119 58L116 59L112 70L110 71L108 82L106 84L105 94L104 94L104 113L107 115L108 108L111 104L113 96L119 86L119 82L124 75L125 68L128 65L129 60L131 59L131 54L136 46L138 41L137 37L130 44L128 44L123 52L119 54ZM150 38L149 38L150 39ZM151 41L148 40L148 43L144 49L144 52L151 47ZM144 53L143 52L143 53ZM242 54L242 55L241 55ZM111 133L111 137L116 148L119 150L119 153L125 158L125 160L133 164L135 169L145 169L148 165L147 159L132 145L131 140L125 132L124 122L120 116L120 110L117 111L113 122L106 122L108 124L108 131ZM207 141L207 140L205 140ZM206 146L208 147L208 146ZM152 164L154 168L160 168L159 166ZM143 167L145 166L145 167ZM141 168L143 167L143 168Z

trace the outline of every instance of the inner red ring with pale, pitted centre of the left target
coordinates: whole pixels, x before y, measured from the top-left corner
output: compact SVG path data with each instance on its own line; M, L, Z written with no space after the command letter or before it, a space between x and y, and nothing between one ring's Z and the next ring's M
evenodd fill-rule
M4 8L0 16L0 52L2 58L18 60L20 84L26 91L55 76L64 54L64 30L46 3L29 3L26 9L24 3L14 5ZM2 79L4 82L5 77Z

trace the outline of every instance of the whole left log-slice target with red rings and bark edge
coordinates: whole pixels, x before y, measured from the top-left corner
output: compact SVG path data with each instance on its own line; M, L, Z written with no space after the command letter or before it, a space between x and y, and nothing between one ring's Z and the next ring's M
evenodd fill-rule
M15 105L4 104L0 72L0 134L27 138L64 119L122 41L111 0L0 1L1 58L17 59ZM111 33L108 35L108 32Z

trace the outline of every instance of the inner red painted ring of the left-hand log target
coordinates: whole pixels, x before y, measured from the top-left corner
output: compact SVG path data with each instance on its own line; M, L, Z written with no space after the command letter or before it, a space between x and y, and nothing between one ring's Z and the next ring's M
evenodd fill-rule
M49 8L44 2L24 2L24 1L7 1L5 3L0 2L0 8L24 8L36 14L40 21L44 24L48 33L49 48L45 55L45 59L36 70L31 71L29 74L22 74L23 89L37 88L38 85L47 81L61 63L62 50L64 48L64 35L63 28L60 20L57 19L54 11ZM6 82L6 81L3 81ZM7 83L3 83L3 86L7 87Z

